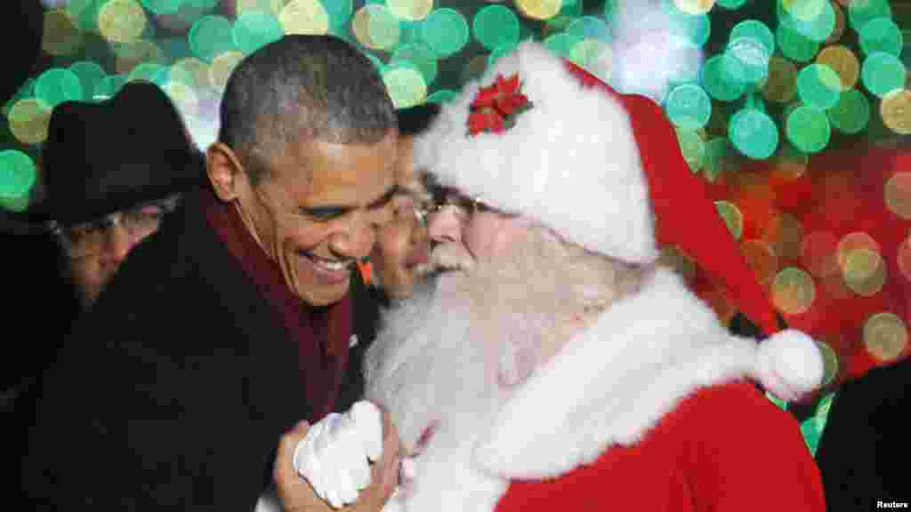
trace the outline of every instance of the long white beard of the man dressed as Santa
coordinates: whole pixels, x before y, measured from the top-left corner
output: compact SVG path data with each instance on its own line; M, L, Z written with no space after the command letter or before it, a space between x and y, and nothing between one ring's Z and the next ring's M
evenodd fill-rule
M507 488L476 465L475 447L537 366L563 299L555 272L523 260L447 272L384 314L365 359L366 398L390 411L405 453L418 453L406 510L492 510Z

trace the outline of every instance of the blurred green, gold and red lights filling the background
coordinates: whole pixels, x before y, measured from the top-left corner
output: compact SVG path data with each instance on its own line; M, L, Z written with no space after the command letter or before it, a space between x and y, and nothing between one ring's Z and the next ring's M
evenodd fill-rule
M830 389L911 352L911 4L40 1L42 61L3 107L0 209L42 198L41 144L62 101L149 80L205 148L231 69L282 35L333 34L361 47L400 108L445 102L535 38L660 102L777 310L822 343ZM732 316L720 283L674 248L665 254Z

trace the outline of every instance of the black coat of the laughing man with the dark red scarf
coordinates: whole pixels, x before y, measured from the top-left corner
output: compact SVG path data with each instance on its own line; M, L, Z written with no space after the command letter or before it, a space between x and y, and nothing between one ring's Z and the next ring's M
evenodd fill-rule
M130 253L46 372L23 457L24 509L243 510L281 435L313 418L298 346L188 194ZM362 392L374 304L335 409ZM360 318L359 318L360 317Z

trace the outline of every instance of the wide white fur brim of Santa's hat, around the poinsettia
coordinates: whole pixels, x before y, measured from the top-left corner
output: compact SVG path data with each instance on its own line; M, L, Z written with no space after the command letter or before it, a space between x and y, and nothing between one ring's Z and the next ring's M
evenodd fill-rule
M517 73L533 107L501 133L468 133L479 87ZM415 142L415 165L442 185L537 219L569 241L630 262L658 257L648 183L622 104L581 87L564 62L527 41L464 87Z

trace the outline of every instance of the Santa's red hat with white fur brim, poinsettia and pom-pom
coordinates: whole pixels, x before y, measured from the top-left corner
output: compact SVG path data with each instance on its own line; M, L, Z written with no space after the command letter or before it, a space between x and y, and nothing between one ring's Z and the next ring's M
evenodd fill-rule
M763 384L794 398L822 380L814 342L779 332L772 302L649 98L621 95L528 41L444 106L415 143L415 165L620 261L648 264L660 244L676 245L774 334L758 353Z

